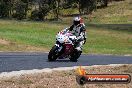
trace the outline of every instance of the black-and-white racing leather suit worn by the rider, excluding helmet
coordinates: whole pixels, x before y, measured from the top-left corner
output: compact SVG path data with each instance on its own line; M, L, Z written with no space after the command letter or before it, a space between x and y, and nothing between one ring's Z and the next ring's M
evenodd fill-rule
M85 25L82 24L78 24L76 25L72 25L69 28L66 28L64 31L70 31L73 35L75 35L77 37L77 45L76 48L78 51L82 51L82 46L83 44L85 44L86 42L86 29L85 29Z

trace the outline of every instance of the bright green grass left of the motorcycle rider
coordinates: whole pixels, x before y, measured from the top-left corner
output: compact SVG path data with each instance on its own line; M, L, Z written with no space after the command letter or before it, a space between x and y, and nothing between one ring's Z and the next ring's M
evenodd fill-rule
M0 36L20 44L51 47L59 28L49 23L1 21Z

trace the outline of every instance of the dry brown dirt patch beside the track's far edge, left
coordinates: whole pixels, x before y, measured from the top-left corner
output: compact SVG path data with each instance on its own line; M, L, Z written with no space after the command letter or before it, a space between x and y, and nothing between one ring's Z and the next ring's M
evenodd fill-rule
M37 47L26 45L22 43L10 42L4 39L0 39L0 52L48 52L45 47Z

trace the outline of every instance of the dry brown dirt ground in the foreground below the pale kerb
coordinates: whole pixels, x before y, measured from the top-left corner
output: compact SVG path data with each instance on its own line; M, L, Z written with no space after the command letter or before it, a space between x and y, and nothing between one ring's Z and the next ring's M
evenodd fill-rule
M132 64L121 66L89 66L85 67L89 74L130 74ZM0 79L0 88L132 88L129 84L85 84L76 82L75 70L36 73Z

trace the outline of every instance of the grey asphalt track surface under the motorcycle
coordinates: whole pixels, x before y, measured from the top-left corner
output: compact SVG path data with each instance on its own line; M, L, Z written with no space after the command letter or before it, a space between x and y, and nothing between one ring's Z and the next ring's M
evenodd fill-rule
M48 62L47 56L46 53L0 53L0 73L71 66L132 64L132 56L81 55L78 62L70 62L69 59Z

